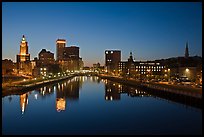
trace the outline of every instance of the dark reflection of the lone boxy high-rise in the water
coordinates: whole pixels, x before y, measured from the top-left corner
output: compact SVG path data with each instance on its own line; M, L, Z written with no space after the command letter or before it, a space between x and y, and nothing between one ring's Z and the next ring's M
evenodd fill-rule
M120 100L118 83L109 81L105 85L105 100Z

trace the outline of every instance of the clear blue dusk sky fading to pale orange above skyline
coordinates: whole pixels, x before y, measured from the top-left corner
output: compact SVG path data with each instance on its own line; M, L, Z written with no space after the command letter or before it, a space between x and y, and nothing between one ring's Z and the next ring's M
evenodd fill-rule
M104 65L107 49L122 60L202 56L200 2L3 2L2 58L16 62L25 35L31 60L45 48L55 54L56 40L80 47L85 66Z

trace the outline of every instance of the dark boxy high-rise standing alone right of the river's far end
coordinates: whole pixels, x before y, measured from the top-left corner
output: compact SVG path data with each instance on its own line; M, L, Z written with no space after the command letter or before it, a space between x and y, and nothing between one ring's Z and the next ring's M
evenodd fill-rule
M105 51L105 66L107 72L118 71L118 64L121 61L120 50L106 50Z

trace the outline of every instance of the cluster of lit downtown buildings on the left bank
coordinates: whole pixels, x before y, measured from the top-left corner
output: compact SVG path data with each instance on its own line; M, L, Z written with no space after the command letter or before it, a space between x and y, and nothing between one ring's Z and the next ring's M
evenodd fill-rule
M38 53L38 57L30 60L28 42L23 35L20 43L20 53L16 56L16 63L7 59L3 60L2 75L13 72L18 76L39 77L65 71L78 71L83 68L82 58L79 57L79 47L66 47L66 40L58 39L56 41L56 51L56 60L54 53L46 49L42 49Z

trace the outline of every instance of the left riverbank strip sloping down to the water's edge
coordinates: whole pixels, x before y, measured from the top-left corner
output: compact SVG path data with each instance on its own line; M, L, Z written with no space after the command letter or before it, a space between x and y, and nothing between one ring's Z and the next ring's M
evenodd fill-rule
M52 78L52 79L45 79L45 80L39 80L39 81L27 81L27 82L20 82L20 83L13 83L10 85L6 85L2 87L2 97L8 96L8 95L21 95L35 88L49 85L65 79L70 79L75 76L76 75L69 75L69 76L64 76L60 78Z

